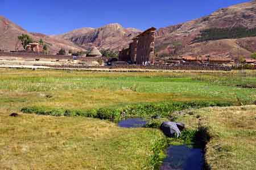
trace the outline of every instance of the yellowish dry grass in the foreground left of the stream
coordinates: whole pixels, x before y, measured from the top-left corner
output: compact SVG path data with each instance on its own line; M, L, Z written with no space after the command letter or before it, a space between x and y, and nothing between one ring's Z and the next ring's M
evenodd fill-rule
M98 119L0 113L0 169L142 169L162 137Z

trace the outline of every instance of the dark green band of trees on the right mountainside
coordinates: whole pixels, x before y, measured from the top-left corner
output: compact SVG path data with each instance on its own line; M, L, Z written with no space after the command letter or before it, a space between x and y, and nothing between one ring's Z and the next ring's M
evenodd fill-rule
M256 36L256 28L247 29L245 27L233 27L233 28L209 28L201 31L199 37L195 39L195 42L204 42L209 40L220 39L238 39Z

